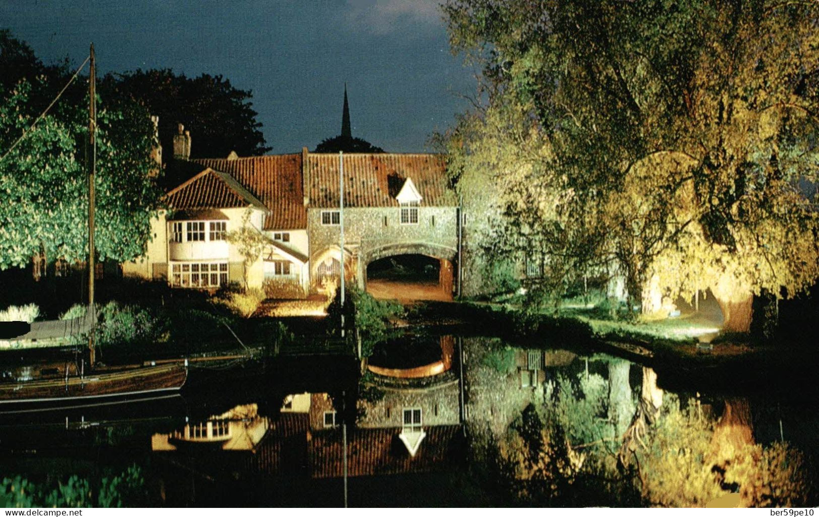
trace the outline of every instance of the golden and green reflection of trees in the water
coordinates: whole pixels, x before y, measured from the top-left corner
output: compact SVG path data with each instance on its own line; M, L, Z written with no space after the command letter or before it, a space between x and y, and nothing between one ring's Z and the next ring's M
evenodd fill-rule
M705 506L731 491L743 506L812 500L799 451L754 443L748 401L726 401L715 422L695 401L663 393L650 368L632 394L630 364L606 361L609 379L559 374L543 404L528 406L498 437L500 472L515 501Z

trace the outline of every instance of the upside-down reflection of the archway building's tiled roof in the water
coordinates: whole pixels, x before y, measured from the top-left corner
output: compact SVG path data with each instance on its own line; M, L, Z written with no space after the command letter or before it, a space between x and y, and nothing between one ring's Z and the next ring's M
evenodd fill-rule
M398 438L400 429L350 429L347 431L347 474L409 474L449 468L458 461L463 437L459 425L425 427L427 433L414 457ZM314 478L342 476L343 447L340 430L314 433L310 474Z

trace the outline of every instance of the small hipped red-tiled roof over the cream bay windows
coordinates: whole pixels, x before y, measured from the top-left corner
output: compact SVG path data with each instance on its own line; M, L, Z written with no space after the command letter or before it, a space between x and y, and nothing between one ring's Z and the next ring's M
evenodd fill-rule
M206 168L165 196L174 210L203 210L210 208L241 208L266 206L230 175Z

